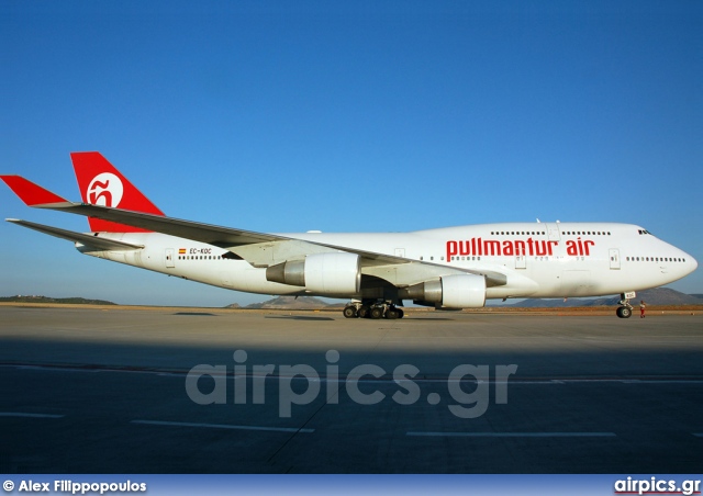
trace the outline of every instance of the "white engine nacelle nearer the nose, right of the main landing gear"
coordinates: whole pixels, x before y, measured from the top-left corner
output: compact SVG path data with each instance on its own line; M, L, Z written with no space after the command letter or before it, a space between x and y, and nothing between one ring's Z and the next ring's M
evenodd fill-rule
M413 298L420 305L435 304L446 308L481 308L486 305L486 278L476 274L445 275L400 290L401 298Z

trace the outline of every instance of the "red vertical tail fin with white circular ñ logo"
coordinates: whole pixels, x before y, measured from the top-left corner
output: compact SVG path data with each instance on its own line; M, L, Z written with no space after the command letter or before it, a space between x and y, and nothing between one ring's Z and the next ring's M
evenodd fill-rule
M164 215L98 151L70 154L83 203ZM147 233L138 227L88 217L90 230L108 233Z

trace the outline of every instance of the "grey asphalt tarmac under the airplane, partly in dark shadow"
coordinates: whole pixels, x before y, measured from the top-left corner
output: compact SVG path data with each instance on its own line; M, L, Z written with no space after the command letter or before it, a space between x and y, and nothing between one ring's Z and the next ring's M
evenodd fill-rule
M0 306L2 473L696 473L703 316Z

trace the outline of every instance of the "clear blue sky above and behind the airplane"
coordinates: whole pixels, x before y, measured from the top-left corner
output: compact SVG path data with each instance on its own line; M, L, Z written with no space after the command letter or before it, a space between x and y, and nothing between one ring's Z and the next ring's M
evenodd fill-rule
M645 226L703 260L703 3L0 3L0 172L99 150L167 215L263 232ZM87 230L0 188L0 215ZM0 295L245 295L0 223ZM703 293L703 271L671 285Z

